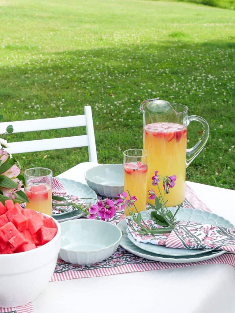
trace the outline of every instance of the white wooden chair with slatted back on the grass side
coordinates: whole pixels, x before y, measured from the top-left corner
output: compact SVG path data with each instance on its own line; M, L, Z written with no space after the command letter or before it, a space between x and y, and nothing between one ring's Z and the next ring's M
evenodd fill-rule
M13 133L86 126L86 135L9 142L7 151L13 154L88 146L89 161L97 163L96 142L90 106L84 107L84 115L3 122L0 123L0 134L6 131L6 127L9 124L13 126Z

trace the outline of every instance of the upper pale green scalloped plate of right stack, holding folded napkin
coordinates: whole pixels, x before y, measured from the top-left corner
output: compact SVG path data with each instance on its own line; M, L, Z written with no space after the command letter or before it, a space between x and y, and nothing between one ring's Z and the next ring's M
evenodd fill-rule
M172 212L175 212L176 208L169 208ZM150 218L151 211L142 211L141 215L144 220ZM218 216L217 214L210 213L207 211L202 210L196 210L191 208L180 208L179 212L176 215L177 221L193 221L193 222L199 222L203 224L212 224L215 226L222 226L227 228L233 228L233 224L230 223L228 220L224 219L221 216ZM140 249L143 249L145 251L155 253L155 254L164 254L169 256L188 256L188 255L198 255L198 254L204 254L206 252L212 251L214 249L175 249L175 248L166 248L165 246L160 246L156 244L151 243L142 243L137 242L131 234L128 234L129 240L131 242L139 247Z

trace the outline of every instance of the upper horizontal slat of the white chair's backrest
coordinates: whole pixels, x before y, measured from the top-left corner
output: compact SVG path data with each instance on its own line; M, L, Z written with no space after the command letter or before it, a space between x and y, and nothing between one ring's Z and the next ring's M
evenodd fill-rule
M23 133L27 131L46 131L49 129L86 126L86 116L74 115L28 121L3 122L0 123L0 134L3 134L6 131L6 127L9 124L13 126L14 133Z

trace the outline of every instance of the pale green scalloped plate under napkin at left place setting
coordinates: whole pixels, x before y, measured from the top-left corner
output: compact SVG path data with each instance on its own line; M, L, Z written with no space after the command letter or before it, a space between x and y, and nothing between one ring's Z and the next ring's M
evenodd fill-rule
M92 199L83 199L83 201L88 205L95 204L97 202L97 194L89 186L82 184L81 182L76 182L72 179L56 177L63 186L65 187L67 194L73 195L79 198L93 198ZM65 222L71 219L76 219L84 216L84 213L81 210L74 210L70 212L63 212L58 214L53 214L52 217L55 218L58 222Z

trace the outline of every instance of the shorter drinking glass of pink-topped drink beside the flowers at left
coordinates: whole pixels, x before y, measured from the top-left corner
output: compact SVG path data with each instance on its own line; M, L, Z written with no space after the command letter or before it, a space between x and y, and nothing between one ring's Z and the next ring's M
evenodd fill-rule
M29 199L26 208L51 215L52 171L49 168L34 167L24 172L25 193Z

